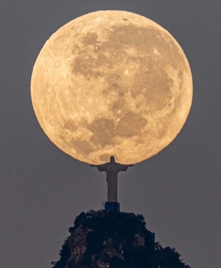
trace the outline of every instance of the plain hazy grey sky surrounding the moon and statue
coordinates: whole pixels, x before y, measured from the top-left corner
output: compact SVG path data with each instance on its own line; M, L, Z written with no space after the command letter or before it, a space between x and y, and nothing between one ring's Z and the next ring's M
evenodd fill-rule
M175 247L192 268L220 268L219 0L1 0L1 267L51 267L75 217L107 199L105 173L54 146L30 99L32 68L45 41L96 10L126 10L156 21L179 42L193 76L191 112L177 138L119 173L120 208L143 214L156 240Z

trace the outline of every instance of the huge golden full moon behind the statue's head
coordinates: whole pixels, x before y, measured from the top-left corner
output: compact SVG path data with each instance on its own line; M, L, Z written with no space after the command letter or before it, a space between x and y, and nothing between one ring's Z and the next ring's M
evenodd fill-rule
M154 21L126 11L78 17L46 41L31 99L49 139L75 159L135 164L180 132L192 102L187 58Z

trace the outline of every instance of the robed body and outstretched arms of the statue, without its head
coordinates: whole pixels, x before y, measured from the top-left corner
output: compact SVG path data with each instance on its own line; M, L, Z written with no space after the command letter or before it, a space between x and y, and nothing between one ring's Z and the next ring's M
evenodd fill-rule
M128 165L109 162L102 165L96 165L96 167L99 171L105 171L107 173L108 202L117 202L117 173L126 171Z

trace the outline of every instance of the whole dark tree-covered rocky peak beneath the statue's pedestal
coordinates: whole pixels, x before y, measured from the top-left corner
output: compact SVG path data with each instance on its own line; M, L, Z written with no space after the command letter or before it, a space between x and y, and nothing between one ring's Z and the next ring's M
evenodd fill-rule
M191 268L174 248L154 243L145 225L133 213L81 213L53 268Z

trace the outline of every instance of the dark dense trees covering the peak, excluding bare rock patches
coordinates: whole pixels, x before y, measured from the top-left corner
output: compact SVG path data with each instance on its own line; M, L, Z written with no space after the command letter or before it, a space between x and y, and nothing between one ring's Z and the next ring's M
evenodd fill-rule
M69 232L71 233L80 225L83 229L94 230L87 235L87 250L81 262L84 267L93 268L92 256L96 256L98 259L101 252L104 252L103 241L106 238L111 238L116 245L122 244L124 259L113 257L110 260L106 257L105 262L109 262L110 268L191 268L182 262L181 255L176 252L175 248L163 248L159 242L152 243L151 232L146 229L146 223L142 215L106 213L104 216L87 218L85 213L81 213L76 217L74 227L69 228ZM134 237L137 233L144 238L144 246L133 246ZM65 240L59 252L60 260L51 263L52 268L65 267L70 257L68 242L69 237ZM102 258L105 258L104 254Z

